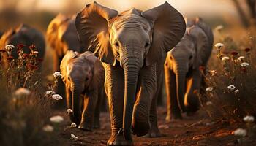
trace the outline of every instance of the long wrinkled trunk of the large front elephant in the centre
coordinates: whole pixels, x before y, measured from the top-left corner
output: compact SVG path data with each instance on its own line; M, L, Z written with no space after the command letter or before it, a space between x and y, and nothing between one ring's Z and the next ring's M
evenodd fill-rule
M134 53L125 54L122 59L122 66L124 69L124 112L123 112L124 139L132 140L132 137L131 137L132 112L133 112L133 106L135 104L138 73L141 67L140 56L134 56Z

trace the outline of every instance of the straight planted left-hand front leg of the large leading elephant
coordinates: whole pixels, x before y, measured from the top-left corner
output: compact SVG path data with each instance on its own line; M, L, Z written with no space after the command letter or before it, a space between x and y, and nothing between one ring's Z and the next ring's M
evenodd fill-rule
M111 136L107 145L132 145L132 141L125 140L123 134L124 71L119 66L103 66L111 122Z

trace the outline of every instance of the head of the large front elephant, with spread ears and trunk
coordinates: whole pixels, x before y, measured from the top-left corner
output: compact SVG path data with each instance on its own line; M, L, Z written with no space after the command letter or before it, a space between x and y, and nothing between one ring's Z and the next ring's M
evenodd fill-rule
M180 41L185 23L167 2L142 12L118 12L97 2L86 5L75 25L80 43L111 66L124 69L124 137L129 140L139 70L151 66Z

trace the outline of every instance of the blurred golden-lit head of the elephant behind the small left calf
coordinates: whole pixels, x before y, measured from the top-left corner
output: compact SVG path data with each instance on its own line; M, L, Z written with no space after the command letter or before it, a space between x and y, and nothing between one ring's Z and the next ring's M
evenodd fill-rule
M50 46L56 50L59 57L62 58L67 50L80 53L78 34L75 29L75 16L57 15L51 20L46 35Z

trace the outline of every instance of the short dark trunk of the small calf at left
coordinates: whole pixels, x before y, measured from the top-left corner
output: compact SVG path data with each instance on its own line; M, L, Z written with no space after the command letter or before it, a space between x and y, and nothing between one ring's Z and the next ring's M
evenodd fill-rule
M80 93L82 89L80 88L80 81L74 81L72 86L72 110L73 118L75 123L80 123Z

